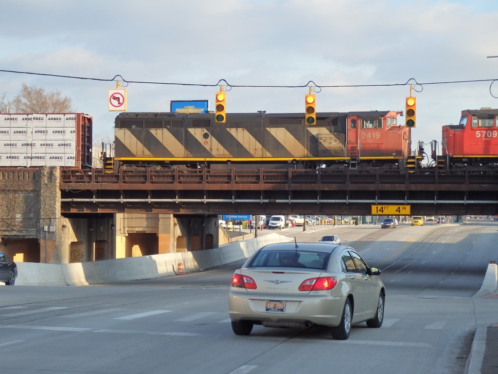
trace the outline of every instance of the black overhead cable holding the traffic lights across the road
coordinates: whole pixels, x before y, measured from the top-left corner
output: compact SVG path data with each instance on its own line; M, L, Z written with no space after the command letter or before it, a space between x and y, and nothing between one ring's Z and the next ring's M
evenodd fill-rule
M46 73L33 73L29 71L14 71L14 70L1 70L0 72L4 73L16 73L16 74L30 74L30 75L42 75L49 77L58 77L58 78L71 78L71 79L83 79L83 80L95 80L95 81L103 81L103 82L113 82L113 81L122 81L124 83L141 83L141 84L163 84L163 85L176 85L176 86L200 86L200 87L216 87L222 85L222 82L225 82L229 87L246 87L246 88L302 88L302 87L310 87L313 84L315 87L319 88L341 88L341 87L388 87L388 86L406 86L408 84L415 84L418 86L422 86L424 84L449 84L449 83L473 83L473 82L494 82L497 79L475 79L475 80L459 80L459 81L446 81L446 82L425 82L418 83L414 78L410 78L405 83L386 83L386 84L354 84L354 85L326 85L319 86L313 81L308 81L305 85L294 85L294 86L280 86L280 85L234 85L228 83L225 79L220 79L216 84L202 84L202 83L173 83L173 82L147 82L147 81L131 81L125 80L121 75L115 75L112 79L103 79L103 78L88 78L88 77L76 77L71 75L60 75L60 74L46 74ZM121 78L121 79L119 79ZM493 84L493 83L492 83ZM490 87L491 88L491 87Z

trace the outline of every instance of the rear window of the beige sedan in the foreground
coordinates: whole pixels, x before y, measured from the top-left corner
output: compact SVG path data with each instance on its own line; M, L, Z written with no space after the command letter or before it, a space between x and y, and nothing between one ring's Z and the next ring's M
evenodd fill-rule
M329 261L329 252L305 250L260 251L251 261L249 267L299 267L325 269Z

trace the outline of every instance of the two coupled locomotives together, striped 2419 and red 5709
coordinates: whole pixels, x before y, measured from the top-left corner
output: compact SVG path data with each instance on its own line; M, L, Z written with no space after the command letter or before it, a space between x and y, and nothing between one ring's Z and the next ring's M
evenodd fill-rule
M396 111L317 113L120 113L115 121L118 168L296 168L411 171L498 169L498 109L463 110L458 125L442 126L441 149L411 150L411 128ZM110 155L110 153L107 153Z

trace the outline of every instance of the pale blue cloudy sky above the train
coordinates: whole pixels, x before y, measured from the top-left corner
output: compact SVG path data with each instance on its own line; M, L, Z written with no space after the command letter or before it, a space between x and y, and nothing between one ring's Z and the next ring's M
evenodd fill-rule
M0 97L23 83L58 90L93 117L94 138L114 136L116 79L128 112L169 111L171 100L214 110L222 84L228 115L304 112L310 85L317 112L404 112L411 84L412 149L441 142L462 110L498 108L496 0L2 0L1 10L0 70L24 73L0 71Z

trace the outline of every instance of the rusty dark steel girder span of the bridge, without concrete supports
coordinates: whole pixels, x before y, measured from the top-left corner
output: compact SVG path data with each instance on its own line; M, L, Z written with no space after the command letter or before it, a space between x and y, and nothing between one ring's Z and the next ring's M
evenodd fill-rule
M497 214L498 173L415 170L62 170L62 213Z

